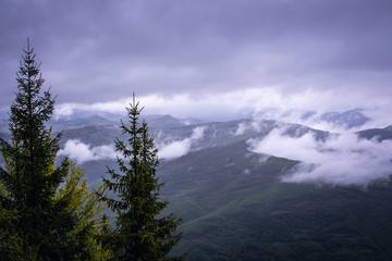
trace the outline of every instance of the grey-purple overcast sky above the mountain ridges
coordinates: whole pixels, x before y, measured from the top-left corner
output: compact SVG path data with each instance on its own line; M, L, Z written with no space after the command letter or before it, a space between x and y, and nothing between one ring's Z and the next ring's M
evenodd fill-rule
M120 111L136 92L150 112L180 116L385 116L391 14L390 0L1 0L0 107L29 37L63 111Z

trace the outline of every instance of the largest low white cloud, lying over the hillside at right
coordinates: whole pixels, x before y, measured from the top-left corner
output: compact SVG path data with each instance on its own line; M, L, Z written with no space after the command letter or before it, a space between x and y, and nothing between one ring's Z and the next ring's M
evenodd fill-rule
M359 139L352 133L317 140L310 132L290 137L280 128L249 145L254 152L302 162L283 182L367 186L392 174L391 140Z

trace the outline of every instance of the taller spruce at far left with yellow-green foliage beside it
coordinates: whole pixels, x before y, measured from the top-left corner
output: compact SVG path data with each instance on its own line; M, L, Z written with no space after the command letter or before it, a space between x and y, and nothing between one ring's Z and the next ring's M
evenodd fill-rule
M45 80L28 40L22 58L10 113L11 142L0 139L5 162L0 167L1 260L86 260L91 245L86 240L97 228L87 220L99 207L88 206L96 201L78 185L82 173L68 158L56 166L61 134L52 138L45 125L54 99L49 90L40 91ZM87 208L78 209L78 203Z

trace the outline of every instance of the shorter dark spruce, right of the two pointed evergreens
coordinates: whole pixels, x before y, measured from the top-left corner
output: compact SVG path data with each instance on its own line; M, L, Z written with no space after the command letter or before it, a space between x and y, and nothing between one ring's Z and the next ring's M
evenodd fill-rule
M148 134L146 122L139 123L138 102L126 108L128 125L121 121L122 133L127 142L117 138L117 151L122 153L117 163L122 174L108 169L110 179L105 185L118 199L105 200L117 213L117 228L112 233L114 260L184 260L167 257L181 234L175 229L181 223L173 213L162 215L168 201L159 200L159 183L156 170L159 164L154 138Z

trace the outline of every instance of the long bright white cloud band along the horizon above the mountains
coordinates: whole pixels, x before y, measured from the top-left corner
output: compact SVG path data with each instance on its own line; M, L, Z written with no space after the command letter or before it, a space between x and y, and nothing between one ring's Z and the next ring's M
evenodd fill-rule
M137 95L137 94L136 94ZM356 102L348 102L355 100ZM136 96L146 114L171 114L176 117L200 117L206 120L232 120L254 117L256 120L278 120L299 123L314 128L328 129L326 122L316 121L326 112L344 112L364 109L363 113L375 121L367 127L383 127L392 123L389 111L392 109L388 96L371 99L359 92L336 89L317 90L311 87L296 92L287 92L280 86L244 87L242 90L215 91L199 95L177 94L172 96ZM62 103L57 105L58 115L70 115L73 110L107 111L124 114L132 97L111 102L91 104ZM315 112L304 119L305 112ZM380 121L376 121L380 119ZM382 124L382 125L380 125ZM331 129L329 129L331 130ZM339 129L336 129L339 130Z

